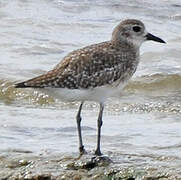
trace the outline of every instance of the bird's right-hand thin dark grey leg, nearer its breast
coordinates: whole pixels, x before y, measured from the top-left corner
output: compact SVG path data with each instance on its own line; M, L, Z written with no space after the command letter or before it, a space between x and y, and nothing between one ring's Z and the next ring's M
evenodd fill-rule
M101 141L101 126L103 124L102 122L102 114L104 110L104 104L100 103L100 111L99 111L99 116L97 120L97 127L98 127L98 133L97 133L97 149L95 151L95 155L100 156L102 155L101 149L100 149L100 141Z

